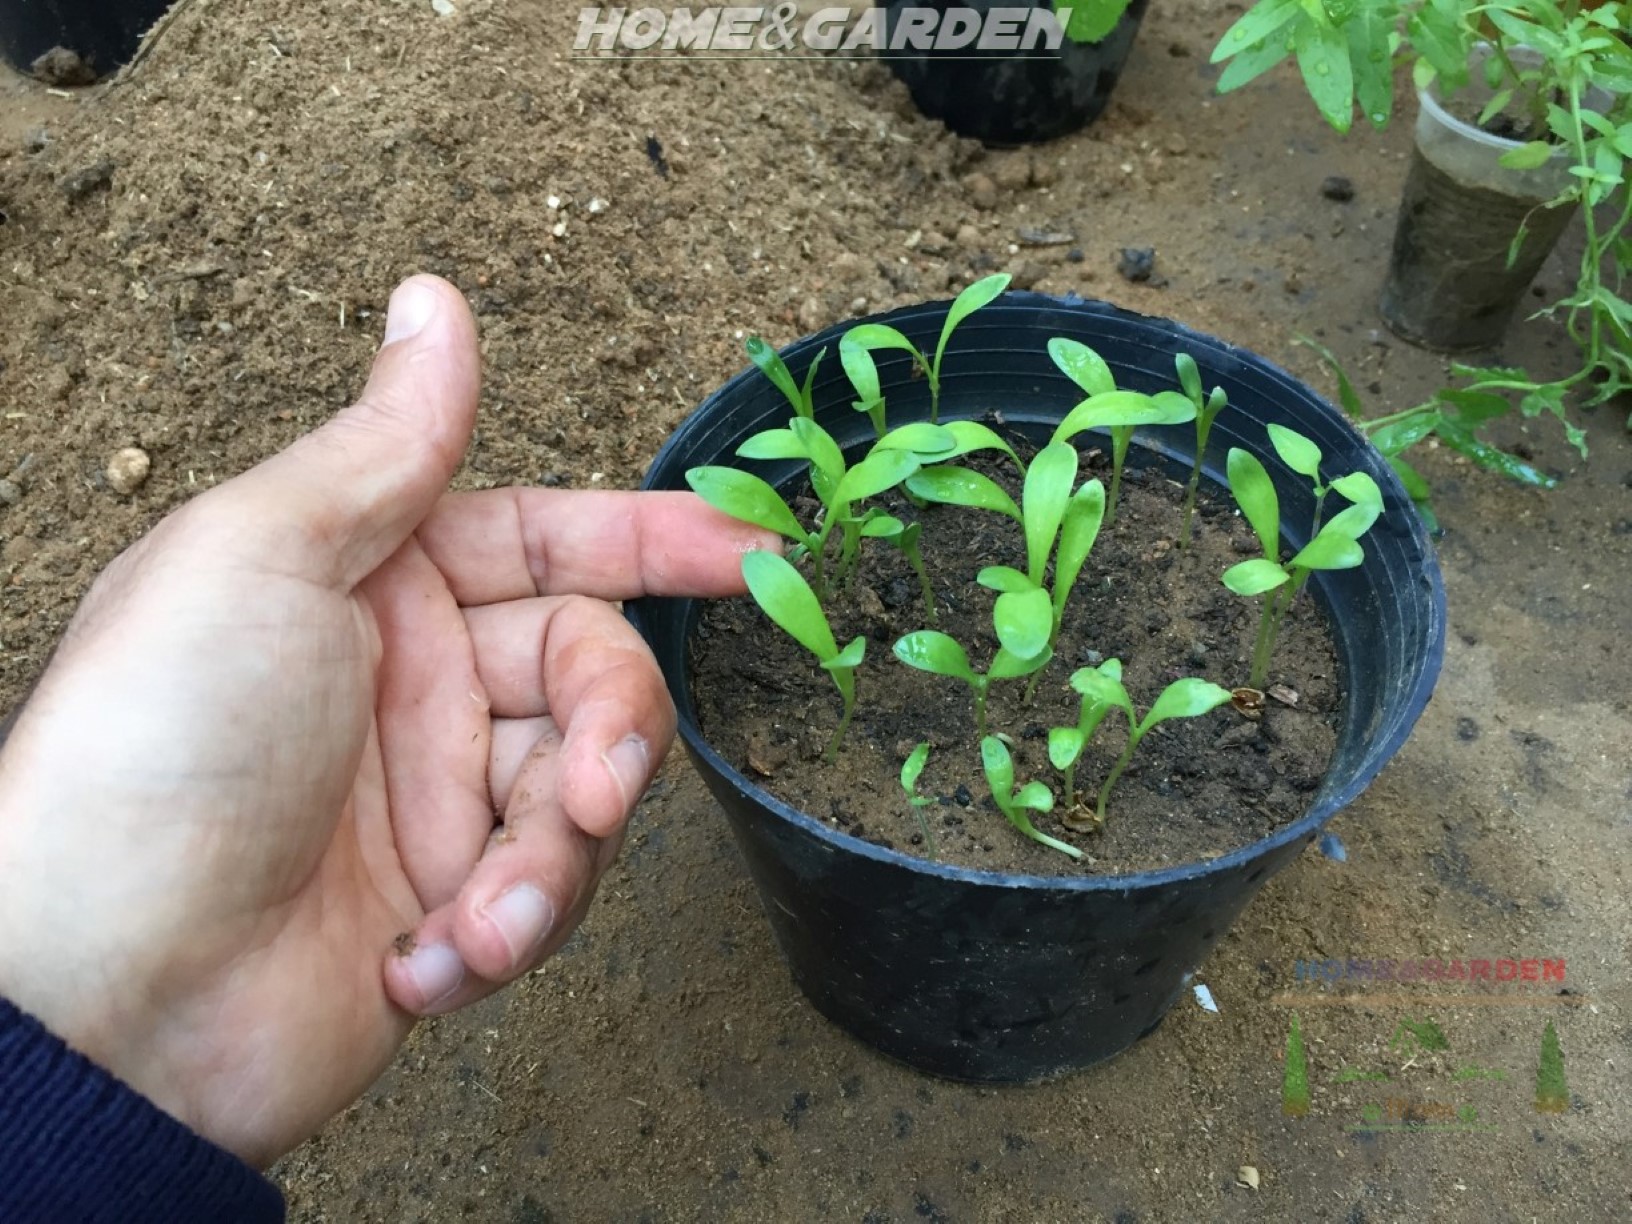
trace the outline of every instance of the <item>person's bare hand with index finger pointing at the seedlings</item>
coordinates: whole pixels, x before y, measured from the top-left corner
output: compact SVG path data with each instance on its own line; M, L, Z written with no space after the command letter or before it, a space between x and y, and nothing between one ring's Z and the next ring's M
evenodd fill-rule
M255 1164L560 947L674 738L604 601L770 545L690 494L444 494L477 392L415 277L356 406L96 579L0 754L0 996Z

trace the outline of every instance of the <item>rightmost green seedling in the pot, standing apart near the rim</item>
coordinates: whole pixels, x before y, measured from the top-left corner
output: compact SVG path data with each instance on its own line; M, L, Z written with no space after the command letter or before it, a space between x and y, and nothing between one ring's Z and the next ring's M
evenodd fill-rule
M1263 599L1258 636L1252 648L1252 672L1247 679L1250 687L1263 689L1281 622L1309 581L1309 574L1317 570L1353 570L1366 560L1359 537L1371 530L1371 524L1382 514L1382 490L1364 472L1351 472L1333 480L1332 488L1353 504L1332 516L1296 557L1281 565L1281 504L1270 473L1257 457L1239 447L1231 449L1226 470L1231 493L1263 548L1263 557L1232 565L1224 571L1224 586L1231 591Z

